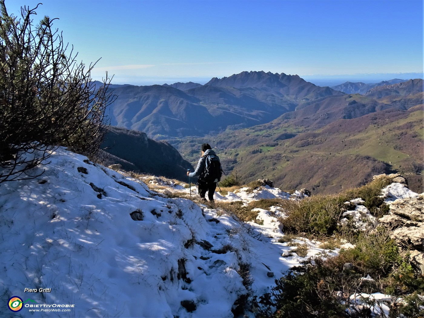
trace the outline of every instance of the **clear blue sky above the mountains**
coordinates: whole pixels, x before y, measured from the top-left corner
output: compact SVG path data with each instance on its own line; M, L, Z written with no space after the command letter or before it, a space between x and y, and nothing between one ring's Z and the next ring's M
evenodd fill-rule
M116 84L203 84L250 70L304 78L423 71L421 0L40 1L35 21L58 17L78 59L101 58L93 78L108 70ZM6 0L6 8L17 14L40 1Z

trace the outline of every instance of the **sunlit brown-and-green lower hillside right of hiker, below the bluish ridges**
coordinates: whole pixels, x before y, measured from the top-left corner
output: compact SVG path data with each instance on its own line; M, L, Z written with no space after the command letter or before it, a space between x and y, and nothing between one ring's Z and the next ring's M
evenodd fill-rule
M411 174L411 189L422 192L423 114L422 106L385 109L319 129L278 119L197 142L210 142L226 173L236 170L245 182L269 178L285 190L336 193L363 185L374 174L396 171ZM197 160L190 151L193 141L173 141L190 162Z

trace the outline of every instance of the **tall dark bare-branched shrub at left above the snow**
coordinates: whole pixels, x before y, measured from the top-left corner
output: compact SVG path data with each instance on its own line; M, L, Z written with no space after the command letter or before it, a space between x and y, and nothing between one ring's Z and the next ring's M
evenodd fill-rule
M0 1L0 183L33 178L28 170L56 145L95 157L108 126L111 79L92 81L95 63L76 61L55 19L34 25L37 7L21 8L18 19Z

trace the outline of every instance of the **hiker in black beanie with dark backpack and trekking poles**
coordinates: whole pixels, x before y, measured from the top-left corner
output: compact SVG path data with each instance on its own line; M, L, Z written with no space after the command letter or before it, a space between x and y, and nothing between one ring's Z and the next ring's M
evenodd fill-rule
M216 184L221 178L219 157L216 155L215 151L212 150L211 146L206 143L202 144L201 152L202 155L199 159L196 170L191 173L190 171L187 171L187 176L190 178L199 176L197 185L201 200L206 201L205 195L207 191L209 201L214 202L213 194L215 193ZM211 164L211 162L213 163Z

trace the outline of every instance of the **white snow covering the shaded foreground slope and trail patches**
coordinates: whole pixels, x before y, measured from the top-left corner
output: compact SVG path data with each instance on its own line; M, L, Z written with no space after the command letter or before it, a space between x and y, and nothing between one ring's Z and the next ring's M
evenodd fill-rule
M45 169L42 176L0 185L0 294L4 308L12 296L24 301L20 312L4 316L232 317L234 302L248 293L243 278L260 296L302 260L337 254L321 242L293 240L309 247L299 257L296 247L279 243L278 207L258 209L256 223L243 223L165 198L64 148L49 160L33 168ZM190 193L184 184L149 178L162 192ZM295 197L270 187L215 194L245 204L259 198ZM62 308L70 311L51 311Z

